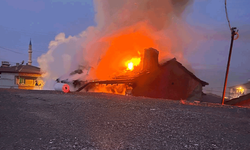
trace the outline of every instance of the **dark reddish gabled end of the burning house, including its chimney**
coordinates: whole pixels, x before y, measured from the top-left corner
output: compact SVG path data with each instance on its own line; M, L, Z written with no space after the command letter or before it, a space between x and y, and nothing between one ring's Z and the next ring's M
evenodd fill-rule
M135 79L134 96L199 101L202 87L208 85L175 58L158 64L158 51L153 48L145 50L143 63L145 73Z

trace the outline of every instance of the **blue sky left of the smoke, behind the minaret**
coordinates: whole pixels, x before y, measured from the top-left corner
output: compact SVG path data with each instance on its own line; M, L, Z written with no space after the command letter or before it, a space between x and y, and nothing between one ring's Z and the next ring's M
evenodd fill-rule
M47 52L48 45L60 32L76 35L95 25L91 0L3 0L0 1L0 46L22 54L0 49L0 60L12 63L25 60L29 39L33 44L33 64Z

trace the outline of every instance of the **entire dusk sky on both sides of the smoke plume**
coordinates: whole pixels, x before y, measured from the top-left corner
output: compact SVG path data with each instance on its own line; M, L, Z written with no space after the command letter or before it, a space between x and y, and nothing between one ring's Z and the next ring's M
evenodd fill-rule
M231 26L237 27L240 35L234 41L228 86L250 79L249 6L249 0L227 3ZM210 84L206 90L221 95L231 36L224 0L194 0L189 7L184 20L190 26L190 34L197 33L202 38L187 45L184 57L194 74ZM48 51L56 35L63 32L66 37L74 36L96 26L95 13L92 0L1 0L0 61L27 63L31 38L33 65L38 66L37 58Z

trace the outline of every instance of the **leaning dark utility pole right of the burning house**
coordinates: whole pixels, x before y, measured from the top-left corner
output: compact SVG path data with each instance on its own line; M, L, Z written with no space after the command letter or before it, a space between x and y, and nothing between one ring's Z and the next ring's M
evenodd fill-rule
M237 40L239 38L238 31L237 32L235 31L236 29L237 29L236 27L231 28L231 44L230 44L230 50L229 50L229 55L228 55L228 61L227 61L227 71L226 71L226 75L225 75L224 89L223 89L222 100L221 100L222 105L224 104L224 101L225 101L225 93L226 93L226 88L227 88L227 78L228 78L231 54L232 54L232 49L233 49L233 42L234 42L234 40ZM234 38L235 35L237 35L236 38Z

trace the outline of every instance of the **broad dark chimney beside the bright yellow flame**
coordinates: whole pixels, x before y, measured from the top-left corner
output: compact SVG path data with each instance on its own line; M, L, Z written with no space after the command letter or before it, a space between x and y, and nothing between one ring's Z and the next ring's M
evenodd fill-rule
M144 58L143 58L143 70L151 71L158 68L158 56L159 51L154 48L148 48L144 50Z

